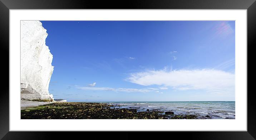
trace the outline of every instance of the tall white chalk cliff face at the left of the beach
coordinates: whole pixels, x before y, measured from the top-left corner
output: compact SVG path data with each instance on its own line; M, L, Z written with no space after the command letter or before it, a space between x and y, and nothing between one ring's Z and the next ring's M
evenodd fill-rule
M53 101L48 87L53 55L45 45L46 29L40 21L21 21L21 99Z

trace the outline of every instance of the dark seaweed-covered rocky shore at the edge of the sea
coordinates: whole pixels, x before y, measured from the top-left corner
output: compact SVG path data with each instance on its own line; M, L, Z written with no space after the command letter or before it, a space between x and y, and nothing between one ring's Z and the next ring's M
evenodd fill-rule
M172 111L115 108L112 104L95 102L52 102L26 107L21 119L210 119L205 116L174 114Z

